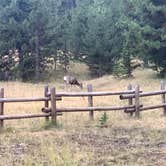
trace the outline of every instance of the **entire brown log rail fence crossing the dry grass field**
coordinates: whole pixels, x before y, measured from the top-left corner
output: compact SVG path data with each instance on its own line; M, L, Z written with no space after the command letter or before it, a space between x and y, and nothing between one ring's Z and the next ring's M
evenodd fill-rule
M118 92L93 92L92 85L87 86L87 92L56 92L56 89L44 88L44 97L41 98L4 98L4 89L0 89L0 127L3 127L4 120L11 119L22 119L22 118L37 118L45 117L46 120L51 117L52 123L57 123L57 116L62 115L63 112L89 112L90 120L94 119L94 111L115 111L124 110L125 113L130 113L132 116L135 113L135 117L140 116L141 111L163 108L164 115L166 115L166 89L165 83L161 83L161 89L154 92L142 92L139 85L132 89L132 85L128 85L126 91ZM119 96L120 100L128 100L126 106L107 106L107 107L95 107L93 104L94 96ZM140 103L140 97L161 95L161 104L143 106ZM57 101L62 100L63 97L87 97L88 106L80 108L58 108ZM44 102L44 107L41 108L43 113L41 114L26 114L26 115L5 115L4 114L4 104L10 102ZM50 107L49 107L50 104Z

